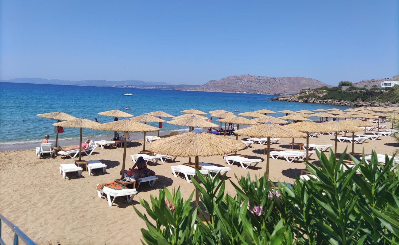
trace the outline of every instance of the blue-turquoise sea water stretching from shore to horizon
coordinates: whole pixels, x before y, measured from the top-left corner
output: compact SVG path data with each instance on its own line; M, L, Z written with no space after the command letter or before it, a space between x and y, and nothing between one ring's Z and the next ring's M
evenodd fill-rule
M90 86L69 86L49 84L25 84L0 82L0 145L38 142L45 134L55 139L52 123L55 120L40 118L36 114L47 112L65 112L77 118L97 120L100 123L111 122L113 118L97 113L107 110L124 110L134 116L162 110L174 116L183 114L181 110L198 109L228 110L248 112L259 109L279 110L314 110L318 108L346 109L346 106L272 101L274 96L265 94L233 94L219 92L192 92L178 90L108 88ZM268 92L268 91L265 91ZM272 91L270 91L272 92ZM134 96L123 96L132 93ZM237 114L237 113L236 113ZM208 115L209 116L209 115ZM273 116L285 116L282 113ZM163 118L171 120L171 118ZM217 118L213 118L216 122ZM158 126L158 123L148 123ZM162 131L186 129L163 123ZM111 135L109 131L83 129L85 137ZM79 129L64 128L59 139L75 139Z

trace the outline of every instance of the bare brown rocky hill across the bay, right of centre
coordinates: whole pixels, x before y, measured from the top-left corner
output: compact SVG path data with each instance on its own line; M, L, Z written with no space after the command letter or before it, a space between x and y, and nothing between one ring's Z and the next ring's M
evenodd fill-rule
M268 77L255 75L228 76L194 88L177 88L178 90L209 92L247 92L263 94L298 93L302 88L332 87L328 84L300 76Z

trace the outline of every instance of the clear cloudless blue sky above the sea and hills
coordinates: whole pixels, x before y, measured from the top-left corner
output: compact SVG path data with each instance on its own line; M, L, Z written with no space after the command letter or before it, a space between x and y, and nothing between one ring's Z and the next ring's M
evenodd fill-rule
M397 0L1 0L0 79L390 78L398 16Z

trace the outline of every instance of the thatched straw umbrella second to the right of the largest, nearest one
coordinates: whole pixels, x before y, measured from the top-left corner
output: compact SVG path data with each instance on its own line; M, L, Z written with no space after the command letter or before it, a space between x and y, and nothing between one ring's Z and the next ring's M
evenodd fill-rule
M322 125L321 123L315 123L310 120L288 124L284 127L306 133L306 161L309 161L309 133L333 133L339 131L334 127Z

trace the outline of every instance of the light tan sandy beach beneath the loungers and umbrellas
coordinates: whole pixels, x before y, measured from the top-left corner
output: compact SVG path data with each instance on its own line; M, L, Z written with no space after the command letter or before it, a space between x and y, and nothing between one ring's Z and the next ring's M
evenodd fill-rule
M321 135L310 138L309 143L334 145L332 139L334 136ZM272 147L288 149L288 142L291 141L292 139L281 139ZM295 139L295 142L306 143L306 139ZM126 169L133 165L129 155L138 153L142 149L141 144L142 141L136 141L128 147ZM351 149L351 144L338 143L338 153L342 153L345 147ZM397 144L392 137L381 136L375 141L367 140L367 143L355 144L355 152L361 152L363 147L365 153L371 153L373 149L380 154L392 155ZM264 148L265 145L252 144L239 153L265 160ZM88 172L83 172L81 177L68 174L70 178L64 180L59 174L59 164L73 163L74 159L61 156L38 159L34 150L0 152L0 213L39 244L57 244L57 241L61 244L140 243L140 229L145 228L145 223L138 218L132 205L144 212L144 208L138 203L139 198L149 201L150 195L158 195L158 189L163 186L169 189L180 186L182 196L188 198L194 186L183 178L173 176L170 166L188 161L187 158L178 157L175 163L158 162L148 166L156 172L158 181L154 188L140 187L132 204L122 202L109 207L104 198L98 198L96 186L120 177L122 154L123 148L98 147L93 155L84 156L83 159L101 160L108 165L107 173L89 176ZM315 160L316 154L310 158L311 162ZM222 156L199 157L199 161L227 166ZM231 166L231 169L227 177L237 183L234 174L246 176L249 172L251 177L263 175L266 161L252 169L242 169L238 165ZM285 160L271 159L270 178L273 181L292 183L294 176L300 174L300 169L304 169L302 162L288 163ZM235 194L229 181L226 182L226 192ZM14 234L4 223L2 234L10 243Z

